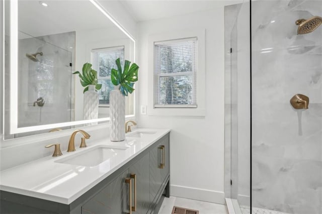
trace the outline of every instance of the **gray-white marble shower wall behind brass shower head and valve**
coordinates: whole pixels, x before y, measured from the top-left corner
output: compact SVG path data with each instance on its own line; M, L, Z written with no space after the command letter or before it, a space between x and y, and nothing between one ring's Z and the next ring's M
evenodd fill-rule
M295 21L322 16L322 1L252 2L252 202L322 213L322 26L297 35ZM310 99L294 110L290 98Z

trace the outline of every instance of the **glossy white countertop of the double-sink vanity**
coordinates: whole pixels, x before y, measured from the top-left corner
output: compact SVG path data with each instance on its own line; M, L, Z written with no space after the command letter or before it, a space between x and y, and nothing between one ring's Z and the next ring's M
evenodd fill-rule
M44 157L0 172L0 189L18 194L70 204L100 181L111 175L128 161L140 154L158 139L170 132L169 129L135 129L134 132L155 132L142 137L126 137L125 141L111 142L108 138L92 142L87 148L75 152L62 151L59 157ZM129 133L131 134L131 133ZM78 145L78 144L77 144ZM96 166L78 166L57 163L61 159L85 153L99 145L128 147L125 152L115 155Z

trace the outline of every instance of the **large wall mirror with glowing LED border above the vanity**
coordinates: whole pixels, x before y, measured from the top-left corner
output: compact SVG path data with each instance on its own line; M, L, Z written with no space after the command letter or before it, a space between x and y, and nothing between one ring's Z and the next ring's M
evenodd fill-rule
M109 120L111 68L117 58L133 62L135 41L108 17L95 0L5 1L5 139ZM84 119L84 87L72 74L86 62L102 83L94 120Z

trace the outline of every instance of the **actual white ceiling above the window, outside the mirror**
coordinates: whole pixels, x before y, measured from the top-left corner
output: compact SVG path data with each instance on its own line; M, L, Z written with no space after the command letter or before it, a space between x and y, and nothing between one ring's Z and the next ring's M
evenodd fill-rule
M120 0L120 2L136 22L142 22L212 10L241 3L243 0Z

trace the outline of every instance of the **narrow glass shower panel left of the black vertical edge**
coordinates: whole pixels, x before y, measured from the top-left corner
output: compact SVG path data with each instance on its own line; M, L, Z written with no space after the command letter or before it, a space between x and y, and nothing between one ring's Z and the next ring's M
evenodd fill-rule
M234 17L234 20L230 20ZM250 210L250 2L225 7L225 166L234 211ZM230 32L227 32L230 31ZM228 156L230 154L230 157ZM228 171L230 169L230 171ZM225 179L227 183L227 179Z

